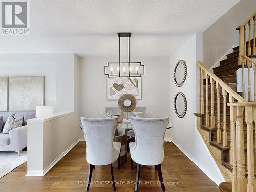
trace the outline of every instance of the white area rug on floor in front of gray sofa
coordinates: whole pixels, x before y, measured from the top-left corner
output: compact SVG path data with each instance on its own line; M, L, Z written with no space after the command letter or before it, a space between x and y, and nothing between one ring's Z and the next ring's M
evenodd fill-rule
M0 178L27 161L27 151L20 155L12 151L0 151Z

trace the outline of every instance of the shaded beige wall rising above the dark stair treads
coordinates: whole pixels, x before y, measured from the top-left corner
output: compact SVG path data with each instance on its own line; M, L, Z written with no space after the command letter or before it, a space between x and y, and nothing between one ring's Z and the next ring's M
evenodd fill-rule
M241 0L203 32L203 63L210 68L233 45L239 44L235 30L256 11L255 0Z

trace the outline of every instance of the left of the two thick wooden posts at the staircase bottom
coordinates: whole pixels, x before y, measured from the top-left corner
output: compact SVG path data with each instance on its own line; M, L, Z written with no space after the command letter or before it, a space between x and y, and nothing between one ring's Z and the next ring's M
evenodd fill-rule
M237 148L237 191L246 192L247 180L245 178L245 153L244 153L244 122L243 107L237 106L236 122L236 148Z

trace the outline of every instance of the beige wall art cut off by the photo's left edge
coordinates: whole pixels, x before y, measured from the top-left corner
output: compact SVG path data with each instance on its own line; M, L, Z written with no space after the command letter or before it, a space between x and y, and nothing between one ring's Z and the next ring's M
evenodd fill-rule
M0 111L8 111L8 77L0 77Z

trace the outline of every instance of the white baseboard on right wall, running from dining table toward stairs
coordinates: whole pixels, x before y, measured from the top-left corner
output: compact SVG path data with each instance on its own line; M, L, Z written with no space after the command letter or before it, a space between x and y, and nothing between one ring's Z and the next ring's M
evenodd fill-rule
M223 181L220 181L219 179L217 179L214 175L212 175L209 172L209 170L207 168L205 168L205 166L203 166L194 157L192 157L189 153L187 153L187 151L184 150L184 148L182 146L180 146L173 138L171 140L179 148L179 150L182 153L184 153L193 163L195 163L198 166L198 168L200 168L202 170L202 172L204 172L205 175L207 175L213 182L215 182L218 186L220 185L220 183L223 182Z

